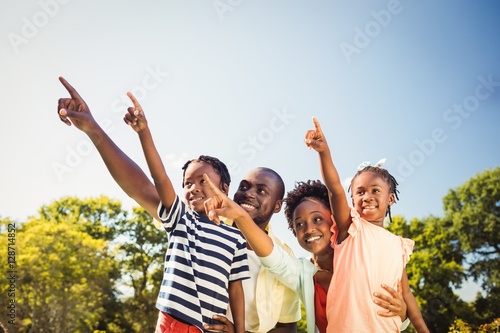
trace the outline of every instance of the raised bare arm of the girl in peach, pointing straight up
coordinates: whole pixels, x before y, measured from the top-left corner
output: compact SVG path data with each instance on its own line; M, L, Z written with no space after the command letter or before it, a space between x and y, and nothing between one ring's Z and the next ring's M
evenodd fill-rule
M347 237L347 230L351 225L351 210L347 203L346 193L339 174L332 161L330 148L326 142L325 135L321 130L318 120L313 117L314 130L308 130L305 135L306 146L318 152L320 160L321 176L328 188L330 195L330 207L335 222L339 228L338 241Z

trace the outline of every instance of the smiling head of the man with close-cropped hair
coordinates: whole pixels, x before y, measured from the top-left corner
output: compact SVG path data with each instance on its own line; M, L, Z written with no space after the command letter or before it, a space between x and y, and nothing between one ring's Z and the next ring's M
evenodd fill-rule
M283 189L276 176L265 169L255 169L245 175L234 194L234 202L245 209L262 229L274 213L281 209Z

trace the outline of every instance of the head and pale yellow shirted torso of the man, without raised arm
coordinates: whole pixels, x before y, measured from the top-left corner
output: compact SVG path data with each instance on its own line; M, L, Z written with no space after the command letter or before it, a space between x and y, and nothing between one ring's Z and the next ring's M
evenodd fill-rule
M272 216L281 210L284 194L285 185L280 175L272 169L260 167L243 177L233 200L268 233L274 244L293 255L292 250L277 239L269 227ZM296 332L297 321L301 317L297 294L264 269L250 247L248 262L250 279L243 281L246 331Z

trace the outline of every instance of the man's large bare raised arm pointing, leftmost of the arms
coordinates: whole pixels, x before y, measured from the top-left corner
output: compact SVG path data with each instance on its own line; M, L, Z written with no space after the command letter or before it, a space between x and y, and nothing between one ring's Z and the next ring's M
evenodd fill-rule
M87 103L78 92L64 78L59 77L59 81L70 95L70 98L60 98L58 101L57 112L61 121L68 126L74 125L90 138L116 183L129 197L157 218L160 198L153 183L94 120Z

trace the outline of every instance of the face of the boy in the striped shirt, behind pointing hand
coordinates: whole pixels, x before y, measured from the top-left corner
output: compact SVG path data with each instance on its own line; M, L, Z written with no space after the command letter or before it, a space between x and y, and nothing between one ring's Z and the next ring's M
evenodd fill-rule
M214 184L219 184L219 188L224 193L227 193L227 185L224 188L220 187L221 178L212 165L196 161L189 163L184 173L184 199L194 211L201 215L206 215L203 203L212 197L211 193L208 192L208 185L203 179L204 173Z

